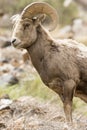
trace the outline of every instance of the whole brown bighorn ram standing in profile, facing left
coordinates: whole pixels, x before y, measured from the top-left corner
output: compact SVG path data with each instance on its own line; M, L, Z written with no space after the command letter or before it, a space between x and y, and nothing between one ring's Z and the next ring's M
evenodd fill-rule
M57 25L57 13L44 2L24 8L16 18L12 44L27 49L42 81L59 94L67 121L72 121L72 100L77 96L87 102L87 47L70 39L54 40L45 29ZM43 26L44 24L44 26Z

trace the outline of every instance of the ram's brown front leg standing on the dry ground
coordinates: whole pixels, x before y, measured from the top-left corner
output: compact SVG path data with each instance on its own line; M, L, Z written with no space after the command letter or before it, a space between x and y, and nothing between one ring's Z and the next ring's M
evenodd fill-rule
M72 100L76 88L76 83L73 80L64 82L63 91L63 104L66 120L72 122Z

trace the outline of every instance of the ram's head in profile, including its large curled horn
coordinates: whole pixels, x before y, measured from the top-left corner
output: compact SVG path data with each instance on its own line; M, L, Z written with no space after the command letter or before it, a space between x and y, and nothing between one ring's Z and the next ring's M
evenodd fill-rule
M38 26L43 25L52 31L57 26L58 16L47 3L35 2L26 6L19 16L14 16L13 21L12 44L17 48L27 48L36 40Z

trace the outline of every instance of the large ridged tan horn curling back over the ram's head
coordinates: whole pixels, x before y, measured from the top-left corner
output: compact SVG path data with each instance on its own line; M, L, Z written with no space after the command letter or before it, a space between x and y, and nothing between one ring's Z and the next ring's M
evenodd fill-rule
M51 22L49 24L49 30L52 31L58 24L57 11L45 2L34 2L24 8L22 11L22 18L33 18L38 14L46 14L50 17Z

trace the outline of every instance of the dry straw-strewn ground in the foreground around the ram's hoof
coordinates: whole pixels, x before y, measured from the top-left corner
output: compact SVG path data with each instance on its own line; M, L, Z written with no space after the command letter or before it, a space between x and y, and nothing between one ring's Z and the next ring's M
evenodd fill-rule
M74 112L73 120L73 125L67 125L58 104L28 96L0 99L0 130L87 130L86 116Z

